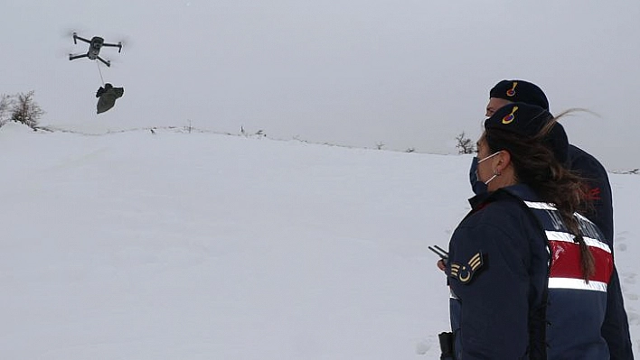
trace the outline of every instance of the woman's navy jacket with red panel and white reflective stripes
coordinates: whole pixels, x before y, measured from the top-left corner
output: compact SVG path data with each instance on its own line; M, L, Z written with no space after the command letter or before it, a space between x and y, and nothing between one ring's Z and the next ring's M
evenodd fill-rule
M619 290L619 283L610 282L613 258L598 228L580 217L598 269L587 284L580 279L577 245L567 241L557 212L528 187L475 200L449 244L458 358L609 358L603 324L612 301L608 288ZM611 337L628 334L626 323L610 325ZM633 358L630 341L627 349L616 358Z

